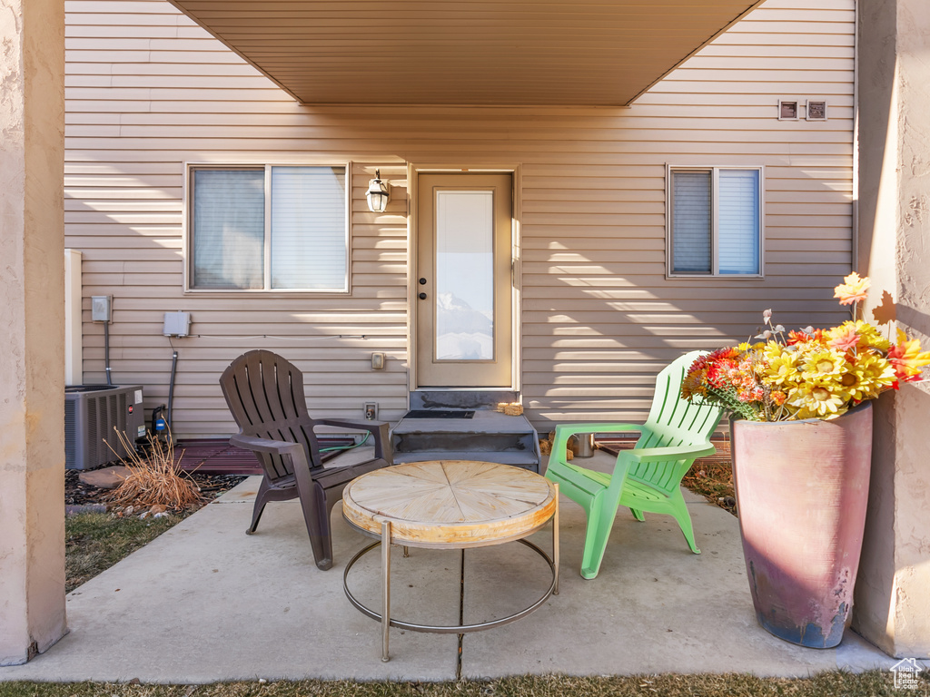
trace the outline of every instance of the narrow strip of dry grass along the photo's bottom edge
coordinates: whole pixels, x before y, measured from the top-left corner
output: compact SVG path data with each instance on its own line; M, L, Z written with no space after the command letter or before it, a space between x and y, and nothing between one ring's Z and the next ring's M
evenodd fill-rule
M3 697L927 697L930 681L918 690L896 690L891 673L820 673L808 678L728 675L631 677L519 676L459 682L230 682L210 685L103 683L0 683Z

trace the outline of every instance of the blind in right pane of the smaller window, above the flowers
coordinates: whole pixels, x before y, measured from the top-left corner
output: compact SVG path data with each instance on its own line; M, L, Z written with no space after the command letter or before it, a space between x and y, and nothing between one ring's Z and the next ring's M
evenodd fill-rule
M720 273L759 273L759 170L722 169L717 194Z

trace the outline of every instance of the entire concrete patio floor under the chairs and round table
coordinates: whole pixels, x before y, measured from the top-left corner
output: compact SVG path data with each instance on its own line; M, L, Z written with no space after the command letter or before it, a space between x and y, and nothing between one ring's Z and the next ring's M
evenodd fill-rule
M609 467L598 453L590 462ZM272 503L246 535L258 478L216 502L68 596L71 633L0 681L130 680L201 683L306 677L452 680L518 674L624 675L749 672L806 676L887 669L897 663L847 631L837 649L805 650L768 635L752 612L737 519L686 494L701 555L675 523L618 515L598 577L578 575L584 514L563 499L561 593L517 622L463 638L391 630L352 608L342 572L369 543L333 513L335 564L312 561L297 502ZM551 550L551 526L533 537ZM460 578L467 622L524 607L549 583L542 559L519 544L392 554L392 616L458 623ZM352 569L356 596L380 609L377 552Z

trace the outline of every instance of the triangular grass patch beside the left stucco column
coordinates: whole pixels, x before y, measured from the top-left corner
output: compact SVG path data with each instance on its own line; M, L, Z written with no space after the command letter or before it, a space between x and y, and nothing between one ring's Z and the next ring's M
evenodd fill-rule
M110 513L78 513L64 521L65 592L109 569L189 515L117 518ZM0 688L2 690L2 688Z

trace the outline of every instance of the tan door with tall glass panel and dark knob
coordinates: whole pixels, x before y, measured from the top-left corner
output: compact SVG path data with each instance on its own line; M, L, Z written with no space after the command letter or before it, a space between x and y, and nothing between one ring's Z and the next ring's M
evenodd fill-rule
M512 387L512 177L419 177L418 388Z

